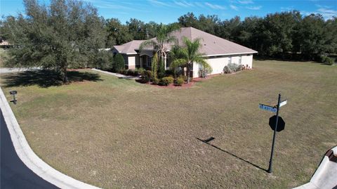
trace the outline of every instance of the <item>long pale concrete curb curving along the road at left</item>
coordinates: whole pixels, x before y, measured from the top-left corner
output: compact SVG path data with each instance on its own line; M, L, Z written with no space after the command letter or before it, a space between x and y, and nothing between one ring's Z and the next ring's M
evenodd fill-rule
M53 167L42 161L30 148L25 136L20 129L20 125L16 120L13 111L8 104L6 96L0 87L0 108L4 115L8 131L11 134L11 140L14 148L22 162L31 169L35 174L44 178L44 180L56 185L59 188L88 188L98 189L93 185L77 181L76 179L62 174L60 171L53 169Z

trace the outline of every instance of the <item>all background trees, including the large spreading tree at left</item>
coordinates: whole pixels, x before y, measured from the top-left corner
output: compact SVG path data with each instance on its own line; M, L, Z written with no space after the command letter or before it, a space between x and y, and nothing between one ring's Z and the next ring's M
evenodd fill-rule
M53 68L63 82L67 82L67 68L108 66L112 53L105 48L133 39L160 38L166 27L195 27L272 58L320 60L337 53L337 18L324 20L319 14L284 11L263 18L220 20L217 15L187 13L169 25L136 18L123 24L118 18L101 17L97 8L84 1L51 0L48 6L37 0L23 2L25 14L0 20L1 40L13 45L7 63Z

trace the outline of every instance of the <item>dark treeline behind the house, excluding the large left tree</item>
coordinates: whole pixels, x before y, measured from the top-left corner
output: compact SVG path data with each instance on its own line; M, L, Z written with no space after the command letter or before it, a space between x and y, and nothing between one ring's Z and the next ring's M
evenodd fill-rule
M336 56L337 18L324 20L322 15L303 16L298 11L271 13L264 18L238 16L220 20L217 15L187 13L172 25L195 27L204 32L234 41L258 51L259 56L286 59L319 60ZM124 44L132 39L156 37L159 24L130 19L121 24L117 18L105 20L106 46Z

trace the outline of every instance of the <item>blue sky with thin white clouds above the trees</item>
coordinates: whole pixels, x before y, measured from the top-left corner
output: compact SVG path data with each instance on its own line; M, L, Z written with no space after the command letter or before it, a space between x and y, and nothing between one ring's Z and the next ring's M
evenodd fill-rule
M218 15L221 20L256 15L263 17L268 13L297 10L303 15L320 13L325 19L337 16L337 0L84 0L98 8L104 18L119 18L122 23L137 18L144 22L154 21L168 24L176 22L188 12L194 15ZM50 0L39 2L49 4ZM0 15L18 15L25 8L20 0L0 0Z

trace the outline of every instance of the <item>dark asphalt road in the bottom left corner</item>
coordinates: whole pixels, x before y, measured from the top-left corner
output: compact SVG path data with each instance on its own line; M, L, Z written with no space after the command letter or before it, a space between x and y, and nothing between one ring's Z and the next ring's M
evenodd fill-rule
M1 189L20 189L20 188L57 188L55 185L48 183L21 161L15 152L11 136L8 132L4 116L0 110L0 126L1 126Z

